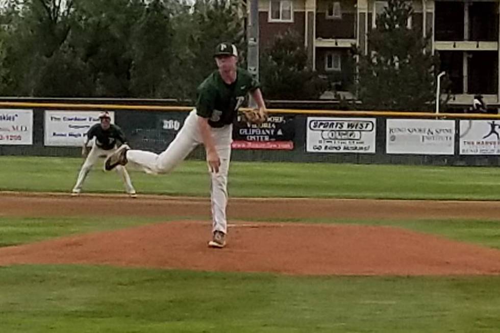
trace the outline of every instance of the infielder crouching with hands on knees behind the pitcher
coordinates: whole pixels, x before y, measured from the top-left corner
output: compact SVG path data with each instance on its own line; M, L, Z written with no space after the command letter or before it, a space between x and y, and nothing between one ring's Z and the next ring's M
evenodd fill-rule
M102 112L99 114L99 120L101 123L95 124L90 127L87 132L87 138L82 146L82 156L86 157L85 162L82 165L82 169L78 174L77 184L74 185L72 195L78 195L82 191L83 182L87 177L92 166L97 162L99 157L108 157L113 152L117 150L117 142L121 145L127 144L127 139L123 134L123 131L117 125L111 123L111 118L108 112ZM95 138L92 143L92 148L88 152L87 144ZM120 174L123 184L125 185L125 190L131 197L136 197L136 192L132 183L130 182L130 176L125 167L118 166L116 171Z

